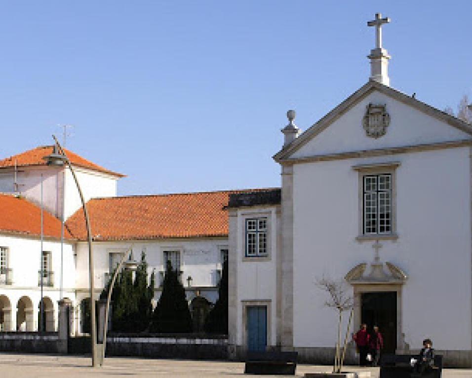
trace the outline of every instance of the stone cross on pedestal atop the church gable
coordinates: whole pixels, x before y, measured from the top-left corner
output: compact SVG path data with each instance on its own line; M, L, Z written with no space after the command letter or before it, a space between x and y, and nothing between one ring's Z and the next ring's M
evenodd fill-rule
M390 85L388 73L390 55L382 47L382 25L388 24L390 18L382 18L382 14L376 13L375 20L368 21L367 26L375 26L375 48L370 50L370 80L375 80L380 84Z

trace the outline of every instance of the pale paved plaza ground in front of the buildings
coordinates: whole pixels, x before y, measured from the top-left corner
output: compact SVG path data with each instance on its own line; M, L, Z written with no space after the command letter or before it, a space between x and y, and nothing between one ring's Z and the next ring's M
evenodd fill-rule
M0 354L1 378L84 378L84 377L242 377L244 364L239 362L151 360L107 358L106 366L89 367L90 358L24 354ZM297 376L308 372L325 372L329 367L299 365ZM358 371L358 368L349 368ZM364 369L378 378L378 369ZM254 376L251 376L254 377ZM266 376L267 377L267 376ZM472 370L447 369L443 378L472 377Z

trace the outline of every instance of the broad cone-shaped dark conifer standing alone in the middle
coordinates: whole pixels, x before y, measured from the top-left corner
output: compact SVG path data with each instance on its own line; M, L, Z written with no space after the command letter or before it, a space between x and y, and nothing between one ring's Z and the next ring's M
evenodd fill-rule
M185 289L179 282L178 273L167 261L162 294L154 310L151 332L189 333L192 331L192 317L185 296Z

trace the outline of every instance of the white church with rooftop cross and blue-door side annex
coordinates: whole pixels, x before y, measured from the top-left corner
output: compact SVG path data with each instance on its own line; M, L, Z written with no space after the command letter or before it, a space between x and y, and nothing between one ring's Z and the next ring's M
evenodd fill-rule
M369 23L366 84L301 134L287 113L280 200L230 199L235 355L332 362L337 317L315 287L328 277L354 297L353 331L378 325L385 352L430 337L446 364L472 366L472 125L390 86L388 21Z

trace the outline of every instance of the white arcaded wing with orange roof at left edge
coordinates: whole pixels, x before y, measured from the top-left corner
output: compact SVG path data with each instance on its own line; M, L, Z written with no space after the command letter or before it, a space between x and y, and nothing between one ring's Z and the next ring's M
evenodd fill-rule
M40 283L43 285L44 329L57 328L60 299L61 221L24 197L0 194L0 330L38 329ZM63 296L75 298L76 241L65 230L63 244ZM42 265L42 272L41 272Z

